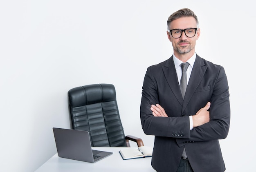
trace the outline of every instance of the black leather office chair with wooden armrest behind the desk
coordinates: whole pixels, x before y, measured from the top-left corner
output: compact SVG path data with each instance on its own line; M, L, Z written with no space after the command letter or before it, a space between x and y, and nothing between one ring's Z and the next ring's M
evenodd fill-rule
M72 129L88 131L92 147L130 147L129 140L144 145L141 138L124 135L114 85L85 85L67 94Z

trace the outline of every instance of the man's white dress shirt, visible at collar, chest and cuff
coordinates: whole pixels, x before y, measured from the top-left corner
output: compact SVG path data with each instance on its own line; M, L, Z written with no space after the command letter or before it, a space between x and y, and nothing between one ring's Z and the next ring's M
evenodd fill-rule
M187 82L189 83L189 78L190 78L190 75L191 75L191 71L193 69L193 65L195 63L195 57L196 57L196 54L194 54L191 58L189 58L188 62L189 63L189 67L186 71L186 77L187 77ZM182 76L182 69L180 67L180 64L184 63L182 62L181 60L179 60L177 57L175 57L175 55L173 54L173 61L174 61L174 65L175 65L175 69L176 69L176 74L177 74L177 77L178 77L178 81L179 81L179 84L180 84L180 78ZM189 129L192 130L193 129L193 119L192 119L192 116L190 115L189 116Z

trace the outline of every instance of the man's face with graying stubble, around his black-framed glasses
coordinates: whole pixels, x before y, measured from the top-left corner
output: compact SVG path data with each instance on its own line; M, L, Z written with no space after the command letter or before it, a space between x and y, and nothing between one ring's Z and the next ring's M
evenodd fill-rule
M197 23L195 18L193 17L182 17L176 20L173 20L169 29L188 29L188 28L197 28ZM172 42L173 51L178 54L187 54L191 52L191 54L195 53L195 42L198 40L200 36L200 29L196 31L195 36L189 38L185 35L184 31L180 38L173 38L171 33L167 31L168 39Z

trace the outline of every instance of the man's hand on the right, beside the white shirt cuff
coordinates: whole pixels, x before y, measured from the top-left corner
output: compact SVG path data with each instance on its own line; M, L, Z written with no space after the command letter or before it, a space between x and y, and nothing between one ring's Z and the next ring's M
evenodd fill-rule
M207 102L207 104L201 108L195 115L192 116L193 119L193 127L198 127L210 121L210 112L208 109L210 108L211 103Z

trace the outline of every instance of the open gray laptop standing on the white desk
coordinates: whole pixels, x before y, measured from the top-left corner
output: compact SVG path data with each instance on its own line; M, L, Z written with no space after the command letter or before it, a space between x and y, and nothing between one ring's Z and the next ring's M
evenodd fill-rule
M95 163L113 152L92 150L88 131L53 128L58 156Z

